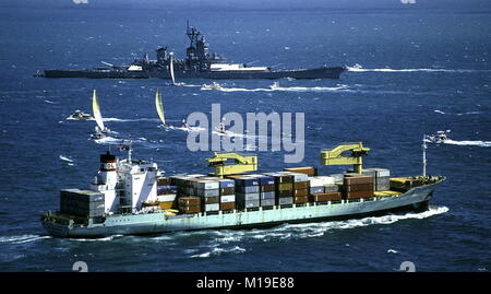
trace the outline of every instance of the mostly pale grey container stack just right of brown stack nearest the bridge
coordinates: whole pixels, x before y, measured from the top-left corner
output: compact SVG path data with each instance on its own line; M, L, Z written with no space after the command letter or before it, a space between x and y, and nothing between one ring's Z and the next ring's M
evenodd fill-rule
M196 178L193 180L193 186L194 195L202 199L204 212L220 210L220 186L217 178Z

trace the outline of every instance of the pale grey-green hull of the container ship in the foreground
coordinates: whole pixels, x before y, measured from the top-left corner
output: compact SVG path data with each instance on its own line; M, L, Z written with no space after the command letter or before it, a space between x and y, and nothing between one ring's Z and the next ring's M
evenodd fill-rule
M273 207L256 211L232 211L216 214L184 214L165 216L164 212L111 215L104 223L87 226L65 225L48 220L44 227L62 237L104 237L109 235L144 235L177 231L252 228L275 226L283 223L309 223L333 220L359 219L391 212L419 211L428 207L434 186L431 184L398 197L369 200L344 200L340 203L307 203L304 207Z

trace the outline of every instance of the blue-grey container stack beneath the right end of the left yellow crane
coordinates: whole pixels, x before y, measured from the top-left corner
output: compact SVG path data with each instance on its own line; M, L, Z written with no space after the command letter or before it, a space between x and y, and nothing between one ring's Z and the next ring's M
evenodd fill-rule
M239 209L253 209L260 207L260 185L254 176L235 177L236 202Z

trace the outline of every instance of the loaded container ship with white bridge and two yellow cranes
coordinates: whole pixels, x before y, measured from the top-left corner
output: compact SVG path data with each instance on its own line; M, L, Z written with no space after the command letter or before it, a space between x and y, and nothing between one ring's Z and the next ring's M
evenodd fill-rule
M166 176L156 163L132 160L131 146L125 150L122 160L100 155L89 189L60 191L60 209L41 215L49 234L77 238L252 228L422 211L445 179L427 176L426 169L422 176L391 177L386 168L362 168L370 149L361 142L321 151L323 165L352 165L332 175L319 175L316 167L258 173L255 155L214 153L207 158L214 173Z

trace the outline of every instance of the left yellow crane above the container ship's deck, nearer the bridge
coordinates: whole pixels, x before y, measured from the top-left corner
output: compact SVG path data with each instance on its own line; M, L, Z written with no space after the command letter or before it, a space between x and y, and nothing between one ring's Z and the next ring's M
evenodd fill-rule
M235 160L233 164L226 165L227 160ZM226 175L241 174L246 172L258 170L256 155L242 155L239 153L218 153L213 157L206 158L209 166L215 167L215 176L224 177Z

